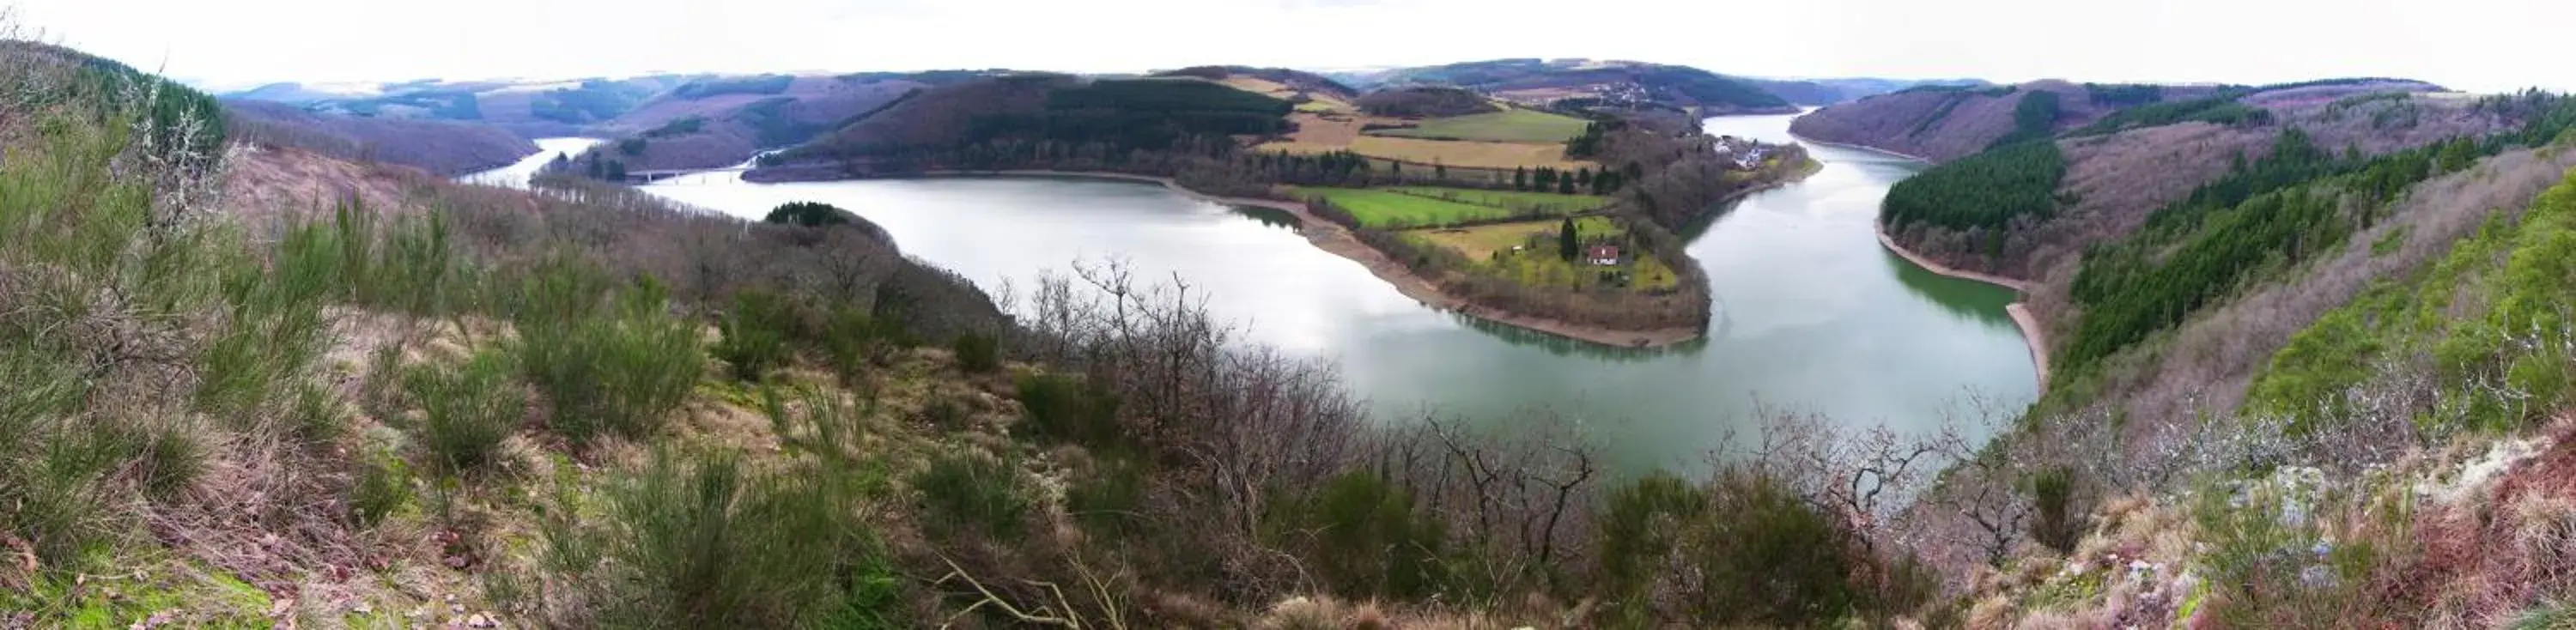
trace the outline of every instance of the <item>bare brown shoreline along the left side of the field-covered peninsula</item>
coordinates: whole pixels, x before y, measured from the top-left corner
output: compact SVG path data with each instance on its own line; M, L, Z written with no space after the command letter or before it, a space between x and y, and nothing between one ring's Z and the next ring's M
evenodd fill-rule
M1162 185L1162 188L1167 188L1172 193L1180 193L1180 195L1188 195L1188 198L1195 198L1195 201L1208 201L1208 203L1221 203L1221 206L1255 206L1255 208L1273 208L1273 211L1293 213L1298 219L1298 224L1301 224L1298 234L1306 237L1306 244L1314 244L1316 249L1324 249L1329 255L1345 257L1350 262L1360 262L1360 267L1368 267L1370 275L1378 275L1378 280L1386 280L1388 285L1394 285L1396 293L1404 293L1406 298L1414 298L1422 306L1432 306L1437 311L1453 311L1453 314L1463 314L1463 316L1473 316L1473 319L1484 319L1484 321L1494 321L1494 324L1504 324L1504 327L1533 329L1533 332L1546 332L1546 334L1556 334L1556 337L1566 337L1566 339L1577 339L1577 342L1592 342L1592 345L1605 345L1605 347L1628 347L1628 350L1669 347L1669 345L1700 339L1705 334L1705 329L1700 329L1700 327L1607 329L1607 327L1589 327L1589 324L1574 324L1574 321L1564 321L1564 319L1510 314L1510 311L1497 311L1497 309L1476 306L1476 303L1471 303L1466 298L1458 298L1458 296L1450 296L1448 291L1440 291L1437 283L1432 283L1430 278L1422 278L1422 275L1412 273L1409 267L1404 267L1396 260L1386 257L1386 252L1378 252L1376 247L1363 244L1360 237L1355 237L1347 226L1334 224L1334 221L1324 221L1321 216L1314 216L1314 211L1309 211L1306 203L1298 203L1298 201L1208 195L1208 193L1200 193L1200 190L1190 190L1190 188L1180 185L1172 177L1131 175L1131 172L930 170L930 172L912 172L912 175L904 175L904 177L1092 177L1092 180L1121 180L1121 183L1154 183L1154 185ZM1780 185L1780 183L1775 183L1775 185Z

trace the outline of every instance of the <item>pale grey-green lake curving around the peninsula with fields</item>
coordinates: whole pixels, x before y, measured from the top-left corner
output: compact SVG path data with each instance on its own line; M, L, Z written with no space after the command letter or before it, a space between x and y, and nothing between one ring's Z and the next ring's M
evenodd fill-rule
M1793 116L1710 118L1708 134L1790 141ZM1358 262L1234 208L1141 185L1072 177L742 183L703 172L657 195L744 219L786 201L850 208L907 255L987 288L1041 270L1126 260L1177 278L1242 339L1337 365L1381 422L1422 414L1582 422L1623 471L1698 468L1757 409L1932 429L1968 396L2020 409L2038 393L2012 291L1942 278L1880 249L1873 216L1917 162L1808 147L1824 170L1754 193L1695 226L1716 316L1708 339L1620 350L1427 309Z

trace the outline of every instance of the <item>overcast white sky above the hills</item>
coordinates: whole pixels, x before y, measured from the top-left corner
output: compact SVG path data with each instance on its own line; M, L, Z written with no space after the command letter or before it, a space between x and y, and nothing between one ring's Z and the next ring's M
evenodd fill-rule
M214 87L1595 57L1770 77L2576 90L2576 0L0 0Z

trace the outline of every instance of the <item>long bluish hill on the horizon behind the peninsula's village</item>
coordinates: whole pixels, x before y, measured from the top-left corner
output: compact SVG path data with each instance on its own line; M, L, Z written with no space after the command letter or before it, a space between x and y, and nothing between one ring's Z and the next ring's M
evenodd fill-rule
M1600 100L1607 105L1667 105L1703 113L1798 111L1790 100L1739 77L1646 62L1492 59L1329 77L1358 87L1455 85L1528 105Z

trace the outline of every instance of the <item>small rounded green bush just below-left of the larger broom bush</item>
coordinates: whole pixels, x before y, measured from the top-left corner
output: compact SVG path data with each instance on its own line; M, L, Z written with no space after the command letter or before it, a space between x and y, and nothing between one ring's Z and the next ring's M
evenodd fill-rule
M510 381L502 355L482 352L464 365L420 365L402 375L402 391L420 406L412 427L440 473L474 473L495 463L526 417L528 396Z

